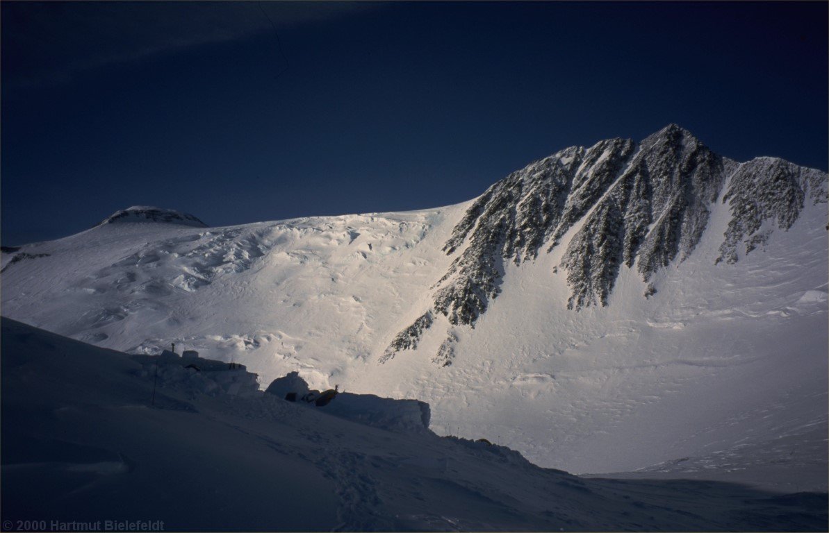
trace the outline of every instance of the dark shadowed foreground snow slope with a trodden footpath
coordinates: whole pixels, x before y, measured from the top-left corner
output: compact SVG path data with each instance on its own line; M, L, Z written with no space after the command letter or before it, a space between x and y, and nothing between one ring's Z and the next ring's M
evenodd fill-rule
M5 318L2 351L4 531L39 528L23 520L52 530L61 527L52 521L75 530L144 521L162 531L827 528L826 494L584 480L420 423L348 420L372 404L391 417L394 401L353 396L330 411L339 398L314 407L256 387L211 387L253 376L204 361L196 372L177 358L128 356Z

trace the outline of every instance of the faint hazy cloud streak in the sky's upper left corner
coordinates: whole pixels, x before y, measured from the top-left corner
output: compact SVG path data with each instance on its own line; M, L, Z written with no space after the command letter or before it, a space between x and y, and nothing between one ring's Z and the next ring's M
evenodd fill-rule
M84 70L323 22L366 2L3 2L4 84L60 83Z

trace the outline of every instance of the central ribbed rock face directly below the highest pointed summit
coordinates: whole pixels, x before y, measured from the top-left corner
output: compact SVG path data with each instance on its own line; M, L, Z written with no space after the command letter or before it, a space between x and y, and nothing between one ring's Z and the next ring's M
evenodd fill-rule
M561 261L572 291L567 306L608 305L622 264L630 268L638 259L648 281L677 255L685 260L734 166L680 127L647 137L567 247Z

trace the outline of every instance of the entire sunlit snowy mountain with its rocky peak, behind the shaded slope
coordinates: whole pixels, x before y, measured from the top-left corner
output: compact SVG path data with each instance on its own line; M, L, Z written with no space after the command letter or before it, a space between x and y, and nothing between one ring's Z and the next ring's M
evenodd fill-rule
M2 314L130 353L175 342L263 387L298 371L417 398L439 433L545 467L727 456L707 475L826 487L822 171L730 161L671 125L567 148L445 208L113 218L4 249Z

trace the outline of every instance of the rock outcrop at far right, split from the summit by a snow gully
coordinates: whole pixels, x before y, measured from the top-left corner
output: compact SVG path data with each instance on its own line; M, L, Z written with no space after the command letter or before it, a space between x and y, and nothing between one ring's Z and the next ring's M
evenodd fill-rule
M787 231L806 199L813 204L827 202L826 174L771 157L740 165L723 198L733 218L716 261L737 262L740 241L745 244L746 254L764 246L774 225Z

